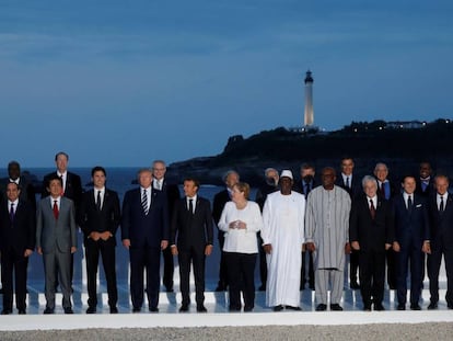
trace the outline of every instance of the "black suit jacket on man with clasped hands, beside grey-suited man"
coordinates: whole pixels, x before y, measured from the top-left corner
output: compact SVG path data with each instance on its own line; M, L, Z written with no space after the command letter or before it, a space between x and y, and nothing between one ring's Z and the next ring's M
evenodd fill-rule
M78 224L84 234L85 241L93 231L109 231L116 245L115 234L119 221L119 198L116 192L105 189L101 211L97 209L94 190L83 193L78 213Z

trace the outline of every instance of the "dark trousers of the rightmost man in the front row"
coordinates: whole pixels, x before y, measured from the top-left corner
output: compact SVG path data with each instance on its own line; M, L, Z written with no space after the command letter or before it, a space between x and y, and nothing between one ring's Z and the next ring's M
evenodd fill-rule
M428 254L428 276L431 302L439 302L439 272L442 262L442 254L445 260L446 272L446 295L445 300L449 307L453 307L453 245L442 238L431 240L431 254Z

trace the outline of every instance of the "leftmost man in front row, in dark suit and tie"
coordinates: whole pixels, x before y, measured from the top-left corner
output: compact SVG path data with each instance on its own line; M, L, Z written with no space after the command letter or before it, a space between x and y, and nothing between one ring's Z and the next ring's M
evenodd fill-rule
M21 190L15 182L7 185L7 200L0 206L0 251L3 285L2 315L12 312L13 272L15 306L25 314L26 269L28 257L35 249L35 211L20 198Z

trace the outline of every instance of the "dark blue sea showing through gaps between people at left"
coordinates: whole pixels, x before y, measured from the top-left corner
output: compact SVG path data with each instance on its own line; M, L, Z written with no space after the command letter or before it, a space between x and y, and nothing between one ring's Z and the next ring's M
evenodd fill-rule
M128 190L137 187L138 184L137 173L140 167L112 167L106 168L107 173L107 187L116 191L118 193L119 200L123 203L123 197ZM55 171L55 168L25 168L22 167L22 173L24 175L28 175L32 178L33 183L35 186L40 186L43 178L45 174ZM82 180L82 186L84 190L90 190L92 187L91 184L91 168L69 168L69 171L80 175ZM8 170L5 168L0 169L0 178L7 178ZM211 204L213 196L216 193L222 191L223 186L212 185L212 184L201 184L198 191L198 194L202 197L208 198ZM40 198L40 190L36 191L37 195L36 198ZM183 195L183 184L179 184L179 192ZM251 191L251 198L255 197L256 189L252 189ZM79 247L78 251L74 254L74 276L73 276L73 285L76 287L84 288L86 284L86 271L85 271L85 262L84 262L84 250L83 250L83 239L82 232L79 231ZM129 253L123 247L120 240L120 230L118 229L116 234L117 239L117 248L116 248L116 263L117 263L117 277L118 277L118 285L127 286L128 279L129 279ZM214 248L213 252L210 257L207 258L206 261L206 287L208 291L214 289L217 286L218 281L218 271L220 264L220 248L218 245L217 238L217 228L214 228ZM100 260L100 268L102 269L102 261ZM161 266L161 271L162 271ZM258 277L258 264L256 265L255 277ZM32 283L34 287L44 288L44 269L43 269L43 260L42 257L38 255L36 252L32 254L30 258L28 263L28 283ZM175 258L175 277L177 279L177 260ZM100 282L105 283L104 272L103 270L100 271ZM257 282L257 285L259 283Z

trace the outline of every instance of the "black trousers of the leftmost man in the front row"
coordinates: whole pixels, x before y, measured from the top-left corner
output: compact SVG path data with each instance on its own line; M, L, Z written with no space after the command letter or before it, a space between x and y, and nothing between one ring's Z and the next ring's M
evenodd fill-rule
M28 265L28 258L24 257L24 251L18 253L12 248L3 249L1 251L3 310L12 311L13 272L15 282L15 306L19 310L24 310L26 308L26 269Z

